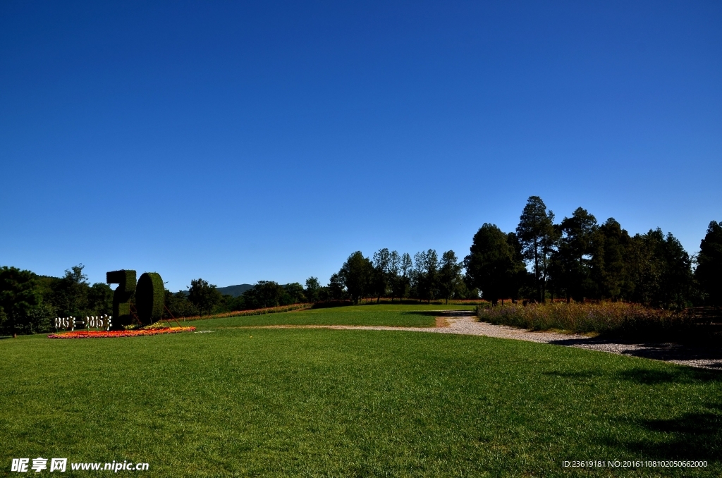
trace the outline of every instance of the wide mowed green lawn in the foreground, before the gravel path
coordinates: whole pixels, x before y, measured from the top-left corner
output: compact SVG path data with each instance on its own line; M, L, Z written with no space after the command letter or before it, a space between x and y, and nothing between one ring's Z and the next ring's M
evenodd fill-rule
M0 340L3 473L43 456L152 477L722 474L714 371L479 336L214 330ZM709 466L562 469L592 459Z

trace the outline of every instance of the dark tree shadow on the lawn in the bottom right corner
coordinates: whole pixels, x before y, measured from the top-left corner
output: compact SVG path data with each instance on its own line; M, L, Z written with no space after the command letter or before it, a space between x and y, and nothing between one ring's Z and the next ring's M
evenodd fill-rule
M628 423L627 420L625 422ZM646 440L607 439L606 445L641 453L653 460L722 459L722 407L708 404L708 411L681 414L664 420L635 420L653 435Z

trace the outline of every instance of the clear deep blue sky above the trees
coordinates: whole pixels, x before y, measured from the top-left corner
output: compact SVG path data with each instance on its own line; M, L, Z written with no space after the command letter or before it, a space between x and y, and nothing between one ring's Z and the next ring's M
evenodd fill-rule
M530 195L696 253L719 1L0 3L0 265L325 283Z

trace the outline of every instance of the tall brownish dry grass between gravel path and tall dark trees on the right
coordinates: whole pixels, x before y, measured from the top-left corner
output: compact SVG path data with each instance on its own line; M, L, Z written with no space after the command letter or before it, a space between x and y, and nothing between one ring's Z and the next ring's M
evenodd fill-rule
M531 330L559 329L578 334L670 334L688 329L684 313L622 302L508 304L477 307L483 322Z

